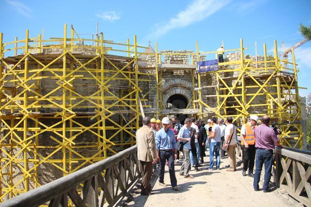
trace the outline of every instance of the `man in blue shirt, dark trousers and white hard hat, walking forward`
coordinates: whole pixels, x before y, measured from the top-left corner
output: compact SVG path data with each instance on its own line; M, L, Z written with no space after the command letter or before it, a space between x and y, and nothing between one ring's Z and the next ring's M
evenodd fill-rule
M170 120L167 117L162 119L163 128L156 133L155 147L157 158L160 160L159 184L166 187L164 183L165 163L168 161L172 189L178 191L177 179L175 176L174 156L176 157L176 140L174 132L169 128Z

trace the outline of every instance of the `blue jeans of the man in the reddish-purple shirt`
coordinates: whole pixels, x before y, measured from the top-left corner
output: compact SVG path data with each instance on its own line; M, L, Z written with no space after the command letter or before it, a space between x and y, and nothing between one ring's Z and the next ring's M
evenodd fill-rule
M259 190L258 184L259 184L260 173L261 173L263 164L264 164L264 182L263 182L262 189L263 190L269 189L272 162L273 162L273 150L264 150L264 149L256 150L256 170L255 170L254 184L253 184L254 189Z

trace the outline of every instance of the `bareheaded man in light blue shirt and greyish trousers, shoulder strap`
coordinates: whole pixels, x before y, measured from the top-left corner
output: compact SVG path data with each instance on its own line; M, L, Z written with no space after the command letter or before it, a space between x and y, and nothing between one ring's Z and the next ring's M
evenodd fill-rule
M192 175L189 174L190 172L190 150L191 150L191 145L190 145L190 140L191 132L187 127L191 126L191 120L189 118L185 119L185 124L184 126L179 130L179 133L177 135L177 140L182 141L184 143L184 147L182 150L182 153L184 154L184 162L180 168L179 174L184 175L184 178L193 178Z

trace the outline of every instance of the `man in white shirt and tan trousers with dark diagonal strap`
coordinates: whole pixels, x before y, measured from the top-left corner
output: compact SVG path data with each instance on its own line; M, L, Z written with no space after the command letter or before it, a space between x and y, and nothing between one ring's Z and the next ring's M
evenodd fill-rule
M230 168L227 171L237 170L237 160L235 156L235 148L237 147L237 131L232 124L232 117L226 118L227 126L225 127L225 146L228 146L227 153L230 160Z

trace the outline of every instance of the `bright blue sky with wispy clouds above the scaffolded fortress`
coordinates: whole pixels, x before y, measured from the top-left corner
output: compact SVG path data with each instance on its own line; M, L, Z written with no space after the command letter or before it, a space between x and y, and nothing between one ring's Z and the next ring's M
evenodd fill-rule
M4 42L23 38L25 30L45 38L61 37L64 23L74 25L79 34L104 32L115 42L138 36L140 45L148 40L159 50L215 51L224 39L225 49L239 48L240 38L247 54L263 54L267 44L271 53L274 40L285 48L303 39L299 24L311 25L311 0L0 0L0 32ZM68 30L69 32L69 30ZM90 38L89 35L82 37ZM300 95L311 92L311 41L295 50L300 73ZM212 58L212 57L211 57Z

